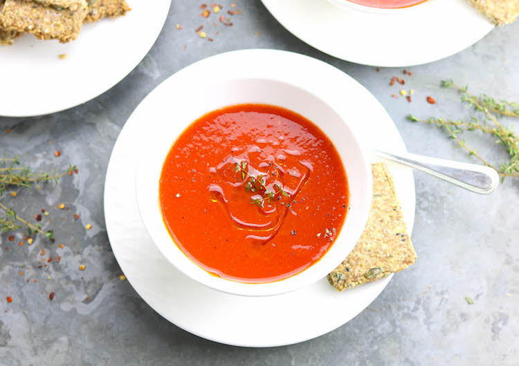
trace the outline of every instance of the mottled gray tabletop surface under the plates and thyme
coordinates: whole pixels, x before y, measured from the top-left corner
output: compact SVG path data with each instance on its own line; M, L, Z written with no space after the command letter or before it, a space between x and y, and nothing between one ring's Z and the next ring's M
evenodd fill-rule
M37 171L60 170L68 162L80 171L58 186L19 190L16 198L1 199L28 218L42 208L50 210L44 222L55 229L57 242L36 240L19 247L19 237L9 242L10 234L0 236L0 365L519 365L518 181L508 180L482 197L417 173L416 264L394 276L352 321L298 345L246 349L198 338L161 318L127 281L119 280L102 210L111 148L138 103L194 61L242 48L316 57L369 89L387 108L410 151L467 162L475 160L437 128L412 124L405 116L471 115L454 91L439 88L439 80L449 77L470 84L475 93L519 99L519 22L493 30L448 59L409 68L413 75L406 77L406 88L415 95L408 104L392 98L399 88L388 86L392 76L402 75L401 68L376 72L334 59L293 37L259 0L235 2L243 15L233 18L232 27L219 27L219 35L209 42L194 32L204 23L199 5L173 1L149 55L107 93L62 113L0 117L0 153L19 154ZM222 5L230 8L230 1ZM427 104L427 95L438 103ZM519 128L519 122L504 123ZM466 140L495 162L505 157L480 135ZM56 150L61 157L54 157ZM70 210L55 208L61 202ZM74 220L73 213L80 219ZM92 229L86 231L86 224ZM61 256L60 264L39 269L42 249L45 257ZM79 264L86 264L86 270L78 271ZM465 296L475 303L468 305ZM315 311L318 316L327 309Z

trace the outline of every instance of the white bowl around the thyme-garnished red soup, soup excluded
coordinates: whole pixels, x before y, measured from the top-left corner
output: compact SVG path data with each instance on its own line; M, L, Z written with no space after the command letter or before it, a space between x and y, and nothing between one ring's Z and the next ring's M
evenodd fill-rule
M331 106L313 95L311 90L304 88L305 83L302 80L307 70L302 70L300 77L290 77L291 80L283 80L282 71L273 72L277 79L233 79L233 75L218 73L212 76L208 76L210 73L201 75L200 80L193 80L192 87L182 90L175 98L163 100L166 106L163 110L167 112L153 116L163 122L161 129L147 131L149 138L143 138L145 141L138 142L142 157L136 173L137 203L150 237L176 268L203 285L219 291L244 296L268 296L310 285L327 276L347 257L358 242L367 222L372 199L372 175L357 137ZM219 278L201 269L185 256L172 240L163 222L158 201L163 163L175 139L201 115L224 106L244 103L282 106L310 119L336 146L349 181L349 212L334 244L309 268L276 282L236 282ZM209 225L210 222L206 224Z

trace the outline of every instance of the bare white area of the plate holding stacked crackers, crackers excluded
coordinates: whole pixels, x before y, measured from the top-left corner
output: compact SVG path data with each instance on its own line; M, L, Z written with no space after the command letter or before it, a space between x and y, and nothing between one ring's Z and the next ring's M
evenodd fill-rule
M0 46L0 115L59 112L124 79L152 48L171 5L171 0L154 0L153 6L145 0L127 2L132 9L127 15L86 23L68 44L22 35L12 46Z

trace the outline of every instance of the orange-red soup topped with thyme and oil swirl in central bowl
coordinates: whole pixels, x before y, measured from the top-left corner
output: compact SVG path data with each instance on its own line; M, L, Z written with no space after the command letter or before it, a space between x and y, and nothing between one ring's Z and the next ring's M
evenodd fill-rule
M210 273L273 282L317 262L348 207L345 168L308 119L262 104L200 117L167 155L159 188L174 242Z

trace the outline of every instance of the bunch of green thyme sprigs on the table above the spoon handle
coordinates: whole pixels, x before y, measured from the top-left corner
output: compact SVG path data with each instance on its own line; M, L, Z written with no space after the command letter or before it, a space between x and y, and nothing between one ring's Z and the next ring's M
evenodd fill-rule
M519 177L519 136L513 132L512 128L503 126L498 120L499 115L519 117L519 104L504 100L496 101L496 99L488 95L476 97L468 93L467 87L462 88L457 86L452 80L441 81L441 86L443 88L455 88L459 93L462 93L462 102L471 104L476 110L482 112L486 120L480 122L475 117L471 117L470 121L443 119L441 117L419 119L414 115L408 115L407 118L412 122L434 124L442 128L450 138L455 139L459 147L467 151L468 155L474 156L477 160L480 160L482 164L498 171L502 180L504 180L505 177ZM491 122L491 125L487 125L487 121ZM500 166L490 164L484 157L479 155L474 148L470 148L465 140L460 137L465 131L480 131L486 135L495 137L495 143L503 145L509 154L509 161L504 162Z

